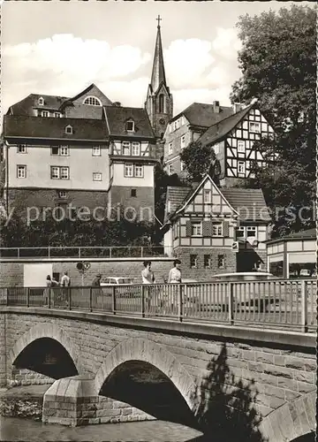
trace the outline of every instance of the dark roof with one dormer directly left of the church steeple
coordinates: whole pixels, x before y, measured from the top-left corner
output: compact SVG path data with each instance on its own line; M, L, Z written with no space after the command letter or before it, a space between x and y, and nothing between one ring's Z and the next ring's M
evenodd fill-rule
M143 108L128 108L122 106L104 106L104 115L110 136L131 136L155 138L155 133L150 125L147 110ZM134 132L125 130L125 122L132 119L135 124Z

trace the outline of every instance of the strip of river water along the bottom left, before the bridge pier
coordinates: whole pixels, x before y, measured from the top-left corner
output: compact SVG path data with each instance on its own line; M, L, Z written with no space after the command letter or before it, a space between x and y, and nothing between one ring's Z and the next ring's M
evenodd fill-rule
M165 421L102 423L85 427L44 424L19 417L0 417L0 440L45 441L110 441L138 440L151 442L194 442L201 432Z

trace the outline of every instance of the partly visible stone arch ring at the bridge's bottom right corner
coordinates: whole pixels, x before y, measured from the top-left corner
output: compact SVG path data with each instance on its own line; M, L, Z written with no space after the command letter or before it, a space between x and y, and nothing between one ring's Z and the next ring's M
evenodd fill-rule
M316 392L287 402L267 415L259 426L264 438L275 442L293 441L315 431Z

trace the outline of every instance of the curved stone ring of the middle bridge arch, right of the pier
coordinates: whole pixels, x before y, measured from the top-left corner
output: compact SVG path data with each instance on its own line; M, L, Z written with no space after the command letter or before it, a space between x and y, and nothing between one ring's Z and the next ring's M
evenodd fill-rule
M101 391L106 379L119 365L133 360L148 362L156 369L161 370L181 393L188 407L194 411L192 394L195 385L193 377L173 354L150 339L126 339L110 350L96 373L96 392Z

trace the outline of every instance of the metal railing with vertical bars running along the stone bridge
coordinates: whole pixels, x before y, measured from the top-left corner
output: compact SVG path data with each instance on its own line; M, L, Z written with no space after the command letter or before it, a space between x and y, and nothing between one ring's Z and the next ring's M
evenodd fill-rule
M0 288L7 306L160 316L304 332L317 326L317 282L264 280L101 287Z

